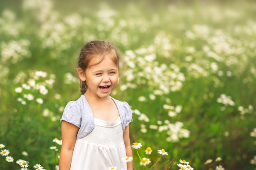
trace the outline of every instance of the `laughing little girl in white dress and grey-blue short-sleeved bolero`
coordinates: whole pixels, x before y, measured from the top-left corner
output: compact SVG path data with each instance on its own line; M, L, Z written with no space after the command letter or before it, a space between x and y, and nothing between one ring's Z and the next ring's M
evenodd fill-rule
M132 170L128 103L110 97L119 79L119 54L106 41L83 46L77 73L81 97L65 106L61 117L59 170ZM111 169L111 168L110 168Z

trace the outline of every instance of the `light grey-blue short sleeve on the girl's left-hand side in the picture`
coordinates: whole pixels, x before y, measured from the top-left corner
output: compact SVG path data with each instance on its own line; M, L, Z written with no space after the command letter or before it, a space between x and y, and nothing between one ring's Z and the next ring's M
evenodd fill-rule
M62 122L63 120L79 128L81 127L81 108L78 102L70 101L67 103L60 121Z

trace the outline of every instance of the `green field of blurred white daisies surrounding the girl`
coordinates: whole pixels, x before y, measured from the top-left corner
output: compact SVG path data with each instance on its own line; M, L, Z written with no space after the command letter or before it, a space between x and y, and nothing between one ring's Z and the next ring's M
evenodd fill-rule
M91 40L124 60L111 95L133 112L133 157L122 159L134 170L256 169L255 1L10 2L0 7L0 170L58 170L59 119L81 95L76 62Z

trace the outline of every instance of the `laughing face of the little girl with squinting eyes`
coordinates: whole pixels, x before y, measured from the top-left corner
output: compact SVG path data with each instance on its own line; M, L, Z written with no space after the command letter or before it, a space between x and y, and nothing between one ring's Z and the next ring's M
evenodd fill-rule
M101 59L101 55L95 55L84 72L88 86L85 94L97 98L108 97L116 87L119 78L117 65L111 57L107 54L103 60Z

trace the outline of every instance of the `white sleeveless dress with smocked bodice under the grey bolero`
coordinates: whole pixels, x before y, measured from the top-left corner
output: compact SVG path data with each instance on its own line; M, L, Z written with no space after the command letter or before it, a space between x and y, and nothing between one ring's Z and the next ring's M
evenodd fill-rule
M70 170L127 169L120 117L113 123L94 118L94 129L76 140Z

